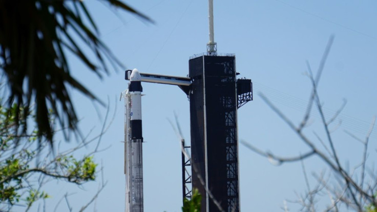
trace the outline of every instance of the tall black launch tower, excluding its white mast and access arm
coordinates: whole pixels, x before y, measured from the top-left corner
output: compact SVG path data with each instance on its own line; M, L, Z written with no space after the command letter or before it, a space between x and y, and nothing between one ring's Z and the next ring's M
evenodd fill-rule
M237 109L252 100L250 79L236 79L234 54L204 53L189 60L192 187L201 211L239 211Z

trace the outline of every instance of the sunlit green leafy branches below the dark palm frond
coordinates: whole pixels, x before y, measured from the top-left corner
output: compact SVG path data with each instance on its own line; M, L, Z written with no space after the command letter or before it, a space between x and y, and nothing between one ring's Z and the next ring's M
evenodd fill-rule
M47 141L36 142L37 130L15 139L15 122L24 121L17 119L15 113L25 111L16 108L17 105L0 106L0 211L9 211L15 204L30 208L35 201L49 198L41 190L46 180L61 179L75 184L95 180L97 164L92 156L79 159L73 156L74 150L54 156ZM16 142L19 139L25 141Z

